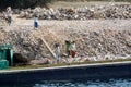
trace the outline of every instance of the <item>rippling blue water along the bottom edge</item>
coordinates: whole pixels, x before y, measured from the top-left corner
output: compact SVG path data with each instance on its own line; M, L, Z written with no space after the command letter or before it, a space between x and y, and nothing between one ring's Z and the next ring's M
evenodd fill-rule
M95 79L95 80L61 80L61 82L43 82L32 84L7 85L0 87L131 87L131 78L119 79Z

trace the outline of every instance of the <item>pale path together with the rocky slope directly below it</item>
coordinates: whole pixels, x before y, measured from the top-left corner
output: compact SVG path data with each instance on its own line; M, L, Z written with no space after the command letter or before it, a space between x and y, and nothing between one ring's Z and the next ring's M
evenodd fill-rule
M14 52L28 59L52 58L43 39L53 50L64 41L76 42L78 57L88 60L131 58L131 20L39 21L33 28L32 20L21 20L0 29L0 44L13 44Z

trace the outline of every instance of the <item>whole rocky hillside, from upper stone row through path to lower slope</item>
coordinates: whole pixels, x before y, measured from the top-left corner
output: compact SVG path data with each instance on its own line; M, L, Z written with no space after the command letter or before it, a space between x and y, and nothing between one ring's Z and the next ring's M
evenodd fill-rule
M27 59L52 58L43 39L52 50L59 42L63 58L66 40L76 42L78 58L131 58L131 4L35 8L14 10L14 14L12 25L0 28L0 45L13 44L14 53ZM33 27L34 15L39 18L38 29Z

